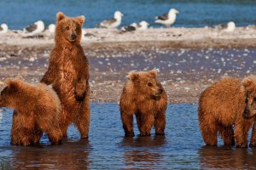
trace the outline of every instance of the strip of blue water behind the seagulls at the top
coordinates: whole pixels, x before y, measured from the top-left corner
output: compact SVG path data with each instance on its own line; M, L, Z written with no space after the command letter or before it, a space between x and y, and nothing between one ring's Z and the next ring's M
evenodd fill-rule
M102 20L113 17L115 10L125 14L122 25L141 20L154 24L154 16L165 14L170 8L177 8L177 22L174 26L201 27L235 21L236 26L256 24L256 1L251 0L1 0L0 23L10 29L23 28L36 20L46 25L55 22L55 14L62 11L70 16L84 14L84 28L92 28Z

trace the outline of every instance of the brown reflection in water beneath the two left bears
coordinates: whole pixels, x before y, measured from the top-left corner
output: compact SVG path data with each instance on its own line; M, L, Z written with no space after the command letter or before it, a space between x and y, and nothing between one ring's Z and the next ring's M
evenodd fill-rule
M87 169L90 144L88 139L64 142L58 146L12 146L12 169ZM8 165L6 165L8 166Z

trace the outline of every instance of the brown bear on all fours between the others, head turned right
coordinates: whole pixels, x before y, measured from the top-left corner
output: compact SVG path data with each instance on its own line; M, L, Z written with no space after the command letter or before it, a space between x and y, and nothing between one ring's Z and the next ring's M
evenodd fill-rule
M126 137L134 136L133 114L141 136L149 136L153 125L156 135L165 134L167 96L156 76L156 71L129 73L119 103Z

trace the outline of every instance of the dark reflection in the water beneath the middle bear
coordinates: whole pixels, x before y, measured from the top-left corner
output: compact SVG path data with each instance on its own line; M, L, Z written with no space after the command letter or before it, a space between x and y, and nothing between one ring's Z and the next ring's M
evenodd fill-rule
M159 147L166 144L165 136L125 138L121 145L125 149L125 165L130 168L154 168L163 164ZM125 169L125 168L124 168Z

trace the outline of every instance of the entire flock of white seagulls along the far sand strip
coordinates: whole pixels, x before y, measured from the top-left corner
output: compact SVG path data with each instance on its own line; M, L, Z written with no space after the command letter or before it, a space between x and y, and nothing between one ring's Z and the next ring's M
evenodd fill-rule
M154 22L158 24L165 25L166 27L170 27L173 25L176 21L176 15L179 14L179 11L175 8L171 8L167 14L162 14L155 17ZM108 29L115 29L118 26L120 26L122 17L124 14L122 14L120 11L116 11L113 14L113 18L110 20L103 20L101 23L96 24L96 27L100 28L108 28ZM145 20L139 22L139 23L132 23L129 26L123 26L120 28L120 32L127 32L127 31L137 31L137 30L146 30L148 29L149 23ZM224 29L225 31L234 31L236 28L236 25L233 21L230 21L226 24L218 25L218 26L212 26L214 28L218 29ZM9 30L8 26L6 24L2 24L0 26L0 34L7 33ZM50 33L55 32L55 24L50 24L49 26L45 27L44 22L42 20L38 20L37 22L33 23L30 26L27 26L26 28L15 31L16 33L20 33L22 36L26 37L32 37L35 35L38 35L39 33L48 30ZM84 32L83 32L84 34ZM83 35L85 36L85 34Z

